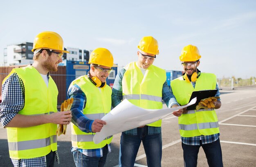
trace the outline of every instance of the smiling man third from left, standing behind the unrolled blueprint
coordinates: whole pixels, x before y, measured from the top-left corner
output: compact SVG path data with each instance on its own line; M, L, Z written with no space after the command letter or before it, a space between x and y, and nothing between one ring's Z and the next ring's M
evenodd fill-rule
M131 62L119 70L112 89L112 106L116 107L123 99L145 109L162 109L166 105L177 107L178 103L171 93L166 72L153 65L159 54L158 42L154 37L142 37L137 46L138 61ZM182 114L174 112L176 116ZM162 120L122 132L120 141L119 165L133 167L141 144L144 146L148 167L160 167L162 159Z

